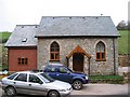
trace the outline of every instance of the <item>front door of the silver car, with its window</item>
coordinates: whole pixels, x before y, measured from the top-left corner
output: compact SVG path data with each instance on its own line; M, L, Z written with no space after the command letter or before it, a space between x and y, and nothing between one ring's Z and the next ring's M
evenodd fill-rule
M43 86L43 82L36 74L29 74L28 91L34 95L46 95L48 92Z

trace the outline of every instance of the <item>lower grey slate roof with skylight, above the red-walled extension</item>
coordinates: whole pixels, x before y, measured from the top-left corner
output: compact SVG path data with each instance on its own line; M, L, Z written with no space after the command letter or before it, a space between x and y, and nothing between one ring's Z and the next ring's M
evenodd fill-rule
M38 25L17 25L4 46L37 46Z

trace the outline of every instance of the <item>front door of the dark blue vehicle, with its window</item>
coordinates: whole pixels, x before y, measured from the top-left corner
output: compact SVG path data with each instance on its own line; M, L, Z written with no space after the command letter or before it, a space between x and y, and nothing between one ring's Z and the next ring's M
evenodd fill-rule
M72 83L72 75L65 67L58 67L56 78L61 81Z

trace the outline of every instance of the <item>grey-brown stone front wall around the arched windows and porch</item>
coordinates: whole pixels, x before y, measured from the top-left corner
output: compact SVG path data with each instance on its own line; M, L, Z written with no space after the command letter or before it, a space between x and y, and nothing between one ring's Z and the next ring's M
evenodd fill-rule
M115 61L116 71L118 67L118 53L117 40L113 41L110 38L65 38L65 39L39 39L38 41L38 69L44 67L50 63L50 45L56 41L60 45L61 61L67 65L66 56L77 46L81 46L88 54L91 55L90 59L90 73L91 74L112 74L114 73L114 42L115 42ZM102 41L106 47L106 61L95 60L95 45ZM84 57L84 73L88 73L88 58ZM69 68L73 68L73 57L69 58Z

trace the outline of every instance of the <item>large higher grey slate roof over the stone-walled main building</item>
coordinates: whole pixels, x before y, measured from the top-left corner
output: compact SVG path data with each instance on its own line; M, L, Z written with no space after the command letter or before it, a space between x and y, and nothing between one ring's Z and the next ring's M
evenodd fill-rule
M109 16L42 16L36 37L118 37Z

